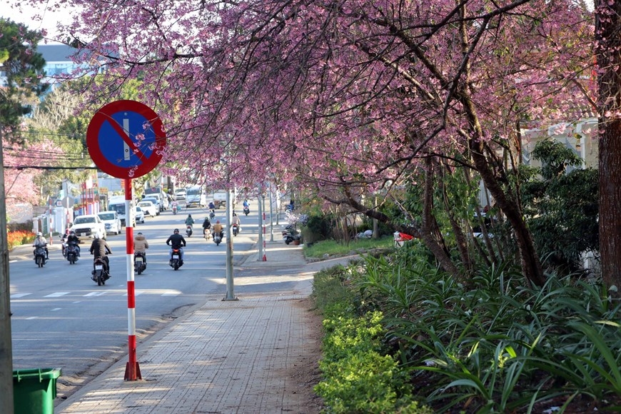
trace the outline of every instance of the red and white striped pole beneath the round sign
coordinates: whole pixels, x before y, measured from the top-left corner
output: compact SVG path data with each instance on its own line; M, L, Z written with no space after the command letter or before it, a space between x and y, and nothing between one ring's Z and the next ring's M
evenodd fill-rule
M136 360L136 293L133 283L133 208L131 179L125 180L125 241L127 270L127 331L129 360L125 366L125 380L141 380L140 366Z

